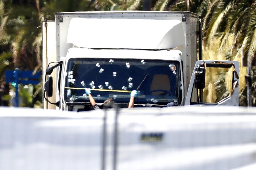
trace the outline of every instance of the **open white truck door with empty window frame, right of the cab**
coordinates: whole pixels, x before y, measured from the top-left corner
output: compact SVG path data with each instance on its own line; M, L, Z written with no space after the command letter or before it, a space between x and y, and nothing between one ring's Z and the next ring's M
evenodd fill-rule
M238 106L238 97L238 61L199 60L196 62L185 105Z

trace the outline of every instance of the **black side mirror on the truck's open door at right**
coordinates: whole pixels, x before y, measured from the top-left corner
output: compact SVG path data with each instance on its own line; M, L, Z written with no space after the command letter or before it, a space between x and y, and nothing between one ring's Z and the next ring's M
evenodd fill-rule
M196 89L204 89L205 87L205 67L199 66L195 70L195 83Z

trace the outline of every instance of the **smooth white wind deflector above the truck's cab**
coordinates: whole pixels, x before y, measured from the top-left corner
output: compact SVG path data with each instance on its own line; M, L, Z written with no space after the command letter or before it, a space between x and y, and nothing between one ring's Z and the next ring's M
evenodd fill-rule
M67 43L84 48L156 50L183 46L185 50L180 20L72 18Z

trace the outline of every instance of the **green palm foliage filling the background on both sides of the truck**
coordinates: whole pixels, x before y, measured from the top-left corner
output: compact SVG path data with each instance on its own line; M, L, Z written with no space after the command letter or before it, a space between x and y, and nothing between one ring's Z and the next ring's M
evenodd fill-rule
M238 59L243 54L242 64L247 61L256 64L256 4L252 0L152 0L152 10L191 11L204 18L204 45L211 45L218 34L220 49L226 47L230 36L234 36L226 59ZM42 20L54 20L56 12L96 10L143 10L142 0L35 0L0 1L0 96L9 100L9 84L4 82L4 71L41 71L41 29ZM223 54L224 55L224 54ZM249 57L248 57L249 56ZM209 58L212 59L212 58ZM241 60L241 58L239 58ZM256 87L255 70L252 71L253 87ZM217 88L225 75L217 78ZM240 76L241 77L241 76ZM220 90L222 91L222 90ZM240 104L246 99L246 88L240 93ZM42 106L42 83L33 87L28 94L21 87L21 96L27 107ZM253 91L253 94L255 92ZM219 94L221 95L221 94ZM254 95L255 96L255 95ZM253 101L256 99L253 98ZM254 102L255 103L255 102ZM0 102L1 104L1 102Z

